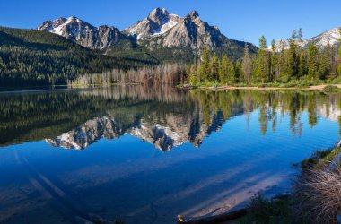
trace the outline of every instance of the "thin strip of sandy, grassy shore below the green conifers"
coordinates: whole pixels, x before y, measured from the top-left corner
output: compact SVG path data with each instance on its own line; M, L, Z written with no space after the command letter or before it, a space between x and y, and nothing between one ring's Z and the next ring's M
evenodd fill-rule
M198 89L205 90L324 90L326 86L335 86L341 88L341 84L322 84L309 87L257 87L257 86L200 86ZM183 88L191 89L191 88Z

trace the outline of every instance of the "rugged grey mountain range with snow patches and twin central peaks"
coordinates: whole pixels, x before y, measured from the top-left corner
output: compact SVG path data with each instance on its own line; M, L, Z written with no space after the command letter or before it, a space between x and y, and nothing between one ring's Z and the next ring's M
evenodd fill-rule
M202 21L196 11L181 17L156 8L143 20L124 30L107 25L95 27L74 16L43 22L36 30L55 33L109 56L139 53L138 56L144 54L158 61L192 60L201 55L204 47L227 53L233 58L242 56L245 44L251 51L257 49L250 43L225 37L218 27Z

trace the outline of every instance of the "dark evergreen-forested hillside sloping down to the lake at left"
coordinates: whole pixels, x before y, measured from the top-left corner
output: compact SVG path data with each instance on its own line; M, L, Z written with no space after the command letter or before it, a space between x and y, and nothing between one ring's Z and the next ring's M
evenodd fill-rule
M136 67L52 33L0 27L0 86L66 84L84 73Z

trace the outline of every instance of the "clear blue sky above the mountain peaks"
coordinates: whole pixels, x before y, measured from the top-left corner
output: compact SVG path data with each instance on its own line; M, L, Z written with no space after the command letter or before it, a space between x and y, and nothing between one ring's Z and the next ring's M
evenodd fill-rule
M75 15L95 26L121 30L155 7L181 16L195 9L228 38L256 44L261 35L269 44L271 39L289 38L300 27L307 39L341 26L340 0L1 0L0 26L31 29L45 20Z

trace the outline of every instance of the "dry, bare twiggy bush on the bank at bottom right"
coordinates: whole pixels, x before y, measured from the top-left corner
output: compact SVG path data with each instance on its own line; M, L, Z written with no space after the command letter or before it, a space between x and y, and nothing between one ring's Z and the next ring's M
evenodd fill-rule
M303 169L294 185L294 213L302 223L337 223L341 214L341 167Z

